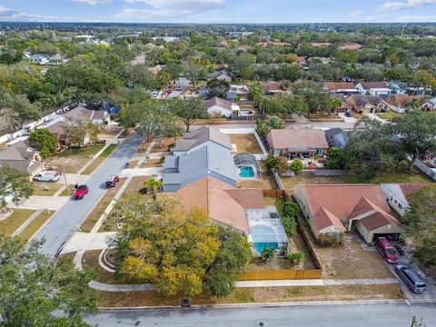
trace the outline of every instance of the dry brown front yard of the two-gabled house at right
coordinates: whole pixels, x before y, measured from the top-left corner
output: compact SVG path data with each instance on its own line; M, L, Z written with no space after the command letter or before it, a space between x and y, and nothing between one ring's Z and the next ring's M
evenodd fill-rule
M392 278L393 275L377 251L365 251L352 233L344 233L343 245L322 247L315 243L309 224L302 228L312 243L326 279Z

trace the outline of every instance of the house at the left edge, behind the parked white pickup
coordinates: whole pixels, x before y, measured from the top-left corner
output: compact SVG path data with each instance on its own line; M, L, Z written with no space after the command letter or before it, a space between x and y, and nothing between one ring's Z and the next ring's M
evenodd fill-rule
M28 140L19 141L0 150L0 167L10 166L31 177L44 170L41 155Z

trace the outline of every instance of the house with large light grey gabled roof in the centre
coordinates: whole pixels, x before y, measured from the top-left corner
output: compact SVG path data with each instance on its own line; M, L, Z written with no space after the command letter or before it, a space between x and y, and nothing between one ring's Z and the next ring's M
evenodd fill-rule
M164 192L176 192L205 176L233 186L238 181L229 136L210 126L176 141L173 154L165 157L163 172Z

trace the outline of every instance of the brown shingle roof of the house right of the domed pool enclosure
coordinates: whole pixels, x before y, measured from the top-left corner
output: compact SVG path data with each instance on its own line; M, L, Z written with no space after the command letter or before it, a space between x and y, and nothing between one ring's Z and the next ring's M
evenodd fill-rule
M318 129L271 130L266 138L273 149L328 149L325 134Z

